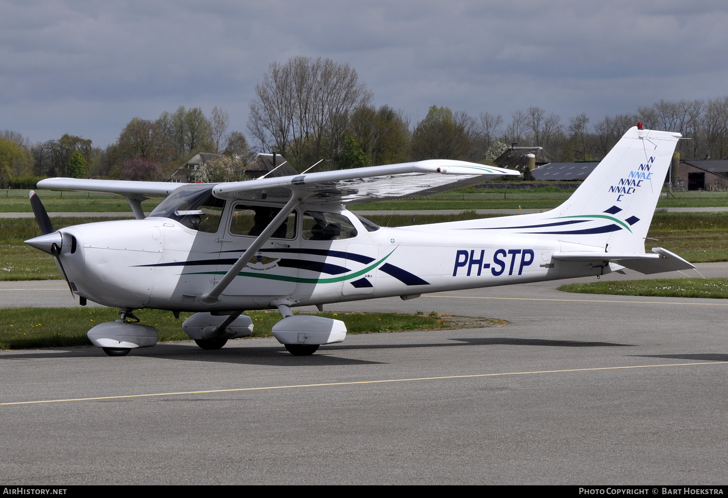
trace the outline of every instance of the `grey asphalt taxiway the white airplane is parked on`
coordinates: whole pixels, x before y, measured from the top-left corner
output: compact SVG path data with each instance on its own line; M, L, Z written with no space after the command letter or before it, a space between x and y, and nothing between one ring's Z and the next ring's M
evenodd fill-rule
M699 266L706 277L727 269ZM510 325L352 335L311 357L274 339L219 351L159 344L126 357L0 352L0 475L9 484L725 483L728 303L561 293L560 283L332 304ZM3 282L0 296L6 306L76 306L65 285Z

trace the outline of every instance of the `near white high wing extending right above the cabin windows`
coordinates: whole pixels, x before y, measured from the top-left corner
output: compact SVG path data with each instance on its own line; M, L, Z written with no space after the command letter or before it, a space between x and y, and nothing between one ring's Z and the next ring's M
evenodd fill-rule
M428 159L399 165L218 183L213 195L221 199L285 202L290 199L290 191L297 190L312 193L309 202L355 204L422 197L504 175L520 173L474 162Z

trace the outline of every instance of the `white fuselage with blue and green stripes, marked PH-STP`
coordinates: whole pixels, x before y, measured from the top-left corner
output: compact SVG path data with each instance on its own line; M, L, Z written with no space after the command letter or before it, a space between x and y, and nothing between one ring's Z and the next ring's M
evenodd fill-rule
M281 298L304 306L584 277L614 269L556 261L553 253L575 250L575 245L558 237L498 229L506 218L491 218L494 229L486 230L454 222L369 232L343 208L300 205L295 237L267 240L220 302L206 306L199 295L210 291L256 239L230 232L232 204L223 209L214 233L161 217L61 229L60 259L72 288L109 307L229 311L269 309ZM346 216L355 236L306 240L301 216L306 210ZM507 219L515 218L526 217Z

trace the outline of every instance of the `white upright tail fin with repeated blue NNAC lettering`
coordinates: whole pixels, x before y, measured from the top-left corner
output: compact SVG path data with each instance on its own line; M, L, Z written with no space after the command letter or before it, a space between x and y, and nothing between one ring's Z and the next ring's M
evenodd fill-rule
M593 245L605 252L644 253L644 239L680 137L630 128L566 202L543 213L566 222L550 233L558 233L562 242Z

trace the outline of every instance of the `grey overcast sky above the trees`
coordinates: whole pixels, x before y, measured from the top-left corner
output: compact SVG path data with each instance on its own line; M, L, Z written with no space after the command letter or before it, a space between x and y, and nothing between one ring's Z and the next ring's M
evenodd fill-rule
M349 63L416 122L436 104L591 124L728 95L728 2L0 0L0 130L106 147L132 117L221 106L295 55Z

